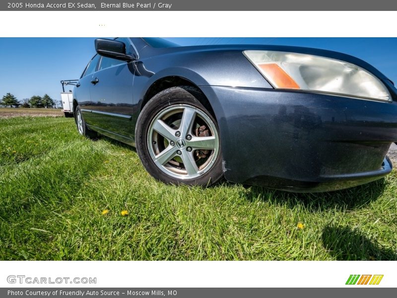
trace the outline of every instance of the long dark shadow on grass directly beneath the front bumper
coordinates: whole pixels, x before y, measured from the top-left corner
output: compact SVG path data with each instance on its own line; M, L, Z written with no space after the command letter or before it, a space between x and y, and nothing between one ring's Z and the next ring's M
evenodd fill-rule
M382 195L385 187L386 181L384 178L348 189L323 193L292 193L252 186L246 190L245 197L249 201L261 199L271 204L283 205L291 209L303 206L311 212L335 208L355 210L377 200Z

